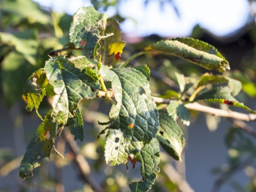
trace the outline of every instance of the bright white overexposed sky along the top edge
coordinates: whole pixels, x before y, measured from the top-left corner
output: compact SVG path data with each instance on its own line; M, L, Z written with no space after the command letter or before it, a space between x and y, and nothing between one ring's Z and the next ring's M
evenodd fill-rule
M81 6L90 6L89 0L35 0L42 6L73 15ZM144 0L122 0L120 14L131 19L121 25L123 32L135 36L157 33L162 36L188 36L198 23L215 35L224 36L239 29L248 20L248 0L174 0L180 18L173 7L166 3L161 9L157 0L144 6ZM108 15L115 9L109 8ZM136 20L137 22L134 22Z

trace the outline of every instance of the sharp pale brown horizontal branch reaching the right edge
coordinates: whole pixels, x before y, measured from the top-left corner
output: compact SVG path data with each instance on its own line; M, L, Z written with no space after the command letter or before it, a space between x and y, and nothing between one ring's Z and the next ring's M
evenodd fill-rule
M156 103L170 103L170 99L163 99L159 97L153 97L154 101ZM187 103L185 104L185 107L194 110L194 111L201 111L204 113L209 113L214 116L222 116L222 117L228 117L228 118L233 118L233 119L238 119L242 121L255 121L256 120L256 114L245 114L245 113L239 113L231 110L223 110L223 109L216 109L216 108L211 108L205 105L201 105L197 102L194 103Z

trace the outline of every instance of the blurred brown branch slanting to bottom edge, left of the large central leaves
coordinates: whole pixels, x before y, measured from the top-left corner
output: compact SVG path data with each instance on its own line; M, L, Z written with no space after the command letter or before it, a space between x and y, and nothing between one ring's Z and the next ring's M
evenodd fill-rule
M87 160L79 153L80 149L76 141L74 140L73 135L70 133L70 131L64 130L61 136L64 137L70 150L75 155L74 163L79 168L79 172L83 180L92 187L93 191L103 192L103 189L101 188L101 186L99 186L90 177L90 166Z

